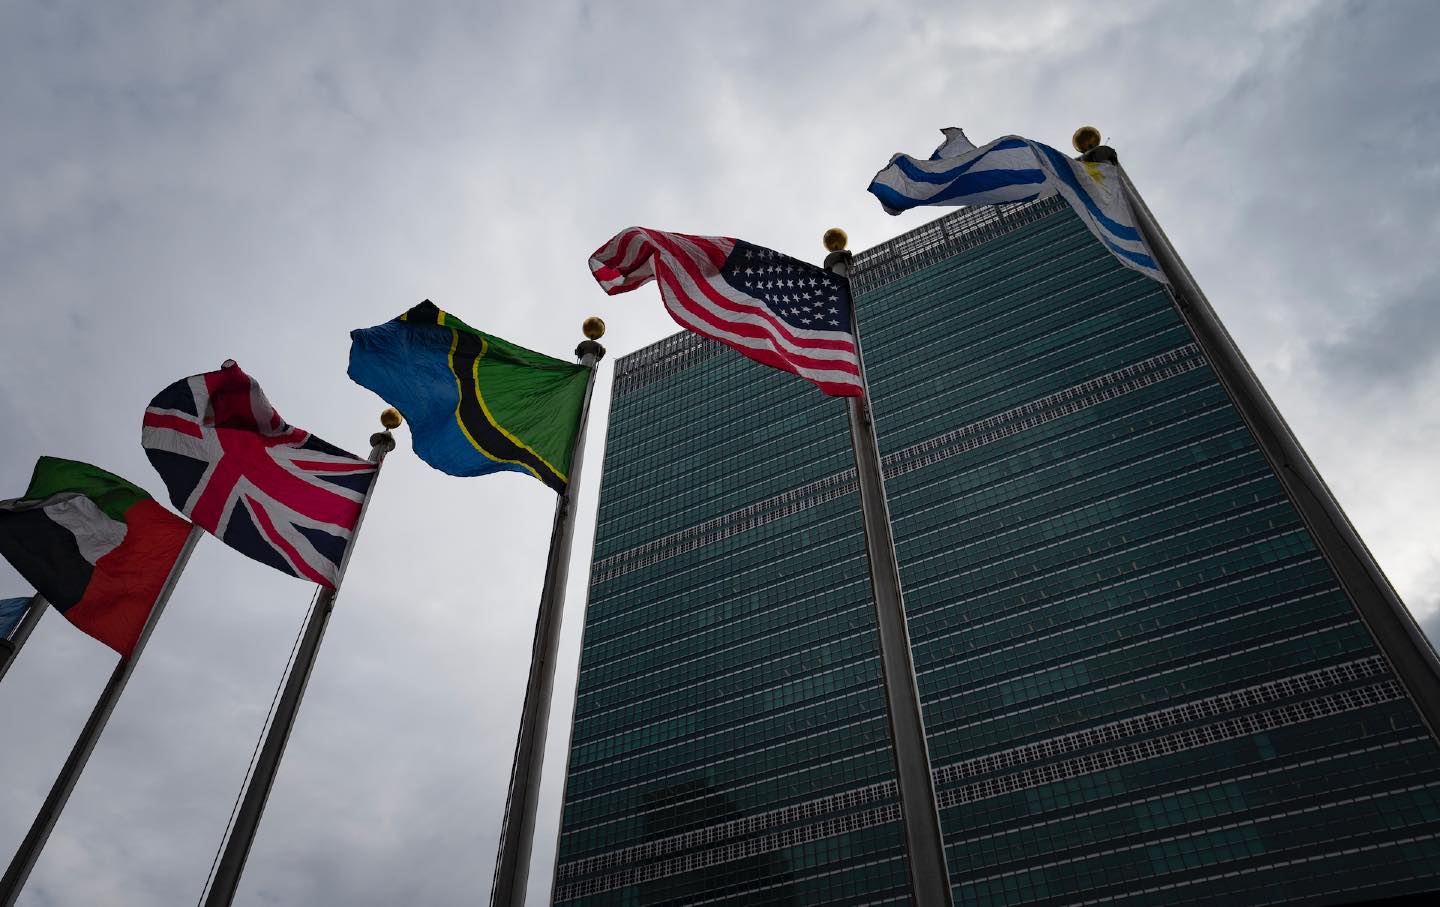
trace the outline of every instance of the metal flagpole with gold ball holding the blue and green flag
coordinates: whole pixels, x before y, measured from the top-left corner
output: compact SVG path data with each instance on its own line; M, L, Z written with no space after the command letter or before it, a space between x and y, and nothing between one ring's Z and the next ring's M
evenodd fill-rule
M580 428L575 435L570 477L564 494L554 504L550 556L546 560L540 615L536 619L536 638L530 649L530 680L526 681L526 700L520 708L520 733L516 737L516 756L510 766L510 790L505 795L500 849L495 854L495 875L490 885L491 907L524 904L530 878L530 848L536 834L536 808L540 803L546 726L550 723L554 661L560 648L564 580L570 572L570 543L575 538L575 498L580 489L580 461L585 455L585 429L590 419L595 366L605 356L605 347L596 343L605 335L605 322L595 317L586 318L583 331L586 340L575 348L575 354L590 374L586 379L585 403L580 406Z

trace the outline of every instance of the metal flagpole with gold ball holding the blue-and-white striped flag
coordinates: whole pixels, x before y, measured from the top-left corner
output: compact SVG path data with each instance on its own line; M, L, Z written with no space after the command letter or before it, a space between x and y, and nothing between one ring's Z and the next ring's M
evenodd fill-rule
M1129 174L1119 166L1115 150L1100 144L1100 132L1094 127L1077 130L1074 144L1084 160L1116 164L1120 186L1135 212L1135 223L1161 271L1169 278L1175 308L1204 350L1211 369L1240 410L1341 585L1355 602L1364 623L1390 658L1430 734L1440 740L1440 658L1436 656L1434 648L1300 448L1290 426L1250 369L1250 363L1215 315L1189 268L1181 261L1140 193L1135 190Z

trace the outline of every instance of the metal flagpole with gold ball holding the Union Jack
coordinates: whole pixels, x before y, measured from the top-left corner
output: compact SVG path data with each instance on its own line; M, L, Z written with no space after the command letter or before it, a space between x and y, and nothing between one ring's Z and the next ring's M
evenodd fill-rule
M271 720L265 734L265 744L255 760L255 772L251 773L245 785L245 796L235 813L235 826L225 839L225 852L215 870L215 880L210 883L206 907L228 907L235 900L235 891L240 884L240 874L245 871L245 859L251 854L255 842L255 831L259 828L261 815L265 812L265 800L271 788L275 786L275 775L279 772L279 760L285 754L285 744L289 741L289 731L295 727L295 716L300 713L300 701L305 697L305 684L310 682L310 672L315 668L315 656L320 654L320 641L325 635L325 625L330 622L330 612L336 608L336 597L340 595L340 583L344 582L346 567L350 564L350 554L354 551L356 538L360 537L360 524L370 508L370 498L374 497L374 485L380 479L380 466L384 465L384 455L395 449L395 438L390 429L400 425L400 413L386 409L380 413L383 432L370 435L370 462L376 464L374 477L370 479L370 491L366 492L360 504L360 515L356 527L350 533L350 544L340 559L340 574L336 577L333 589L324 589L315 599L315 606L305 621L305 629L295 649L295 664L285 677L285 688L275 705L275 717ZM4 907L4 906L0 906Z

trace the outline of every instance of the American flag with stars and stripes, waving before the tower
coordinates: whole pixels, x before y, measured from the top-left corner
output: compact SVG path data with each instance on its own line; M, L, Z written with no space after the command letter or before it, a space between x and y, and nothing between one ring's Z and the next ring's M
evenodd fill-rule
M590 256L612 297L657 281L670 317L838 397L858 397L848 282L729 236L621 230Z

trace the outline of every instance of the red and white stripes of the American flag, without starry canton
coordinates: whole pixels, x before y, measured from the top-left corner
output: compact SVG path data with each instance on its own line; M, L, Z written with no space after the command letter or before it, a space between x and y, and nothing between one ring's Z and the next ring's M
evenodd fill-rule
M654 279L680 327L798 374L829 396L861 396L854 334L792 327L765 302L732 286L720 269L734 242L727 236L629 227L595 251L590 272L612 297Z

